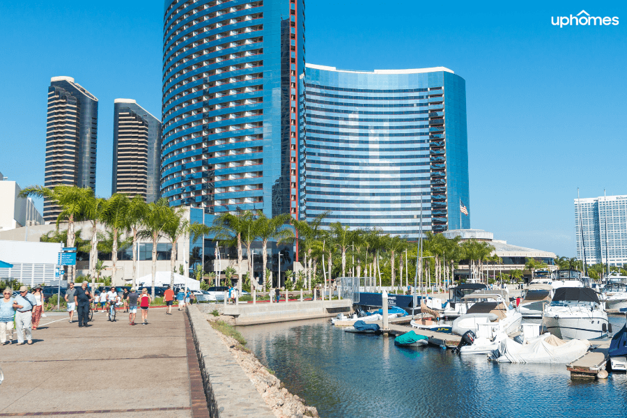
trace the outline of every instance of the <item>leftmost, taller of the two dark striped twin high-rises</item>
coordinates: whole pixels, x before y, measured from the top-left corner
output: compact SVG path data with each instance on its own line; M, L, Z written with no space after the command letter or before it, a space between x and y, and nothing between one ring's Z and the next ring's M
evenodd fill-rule
M98 99L72 77L52 77L48 87L44 185L95 189ZM44 201L45 222L61 210Z

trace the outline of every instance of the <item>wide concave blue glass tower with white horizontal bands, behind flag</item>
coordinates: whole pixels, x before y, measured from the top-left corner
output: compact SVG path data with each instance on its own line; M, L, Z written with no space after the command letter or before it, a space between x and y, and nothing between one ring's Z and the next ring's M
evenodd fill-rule
M446 68L307 64L300 217L416 238L469 229L465 81ZM422 217L421 217L422 209Z

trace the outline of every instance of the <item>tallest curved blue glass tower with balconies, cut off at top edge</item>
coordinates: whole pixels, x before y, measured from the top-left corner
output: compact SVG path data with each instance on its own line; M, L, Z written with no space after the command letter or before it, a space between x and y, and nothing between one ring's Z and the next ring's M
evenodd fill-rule
M207 214L298 213L304 0L167 0L161 194Z

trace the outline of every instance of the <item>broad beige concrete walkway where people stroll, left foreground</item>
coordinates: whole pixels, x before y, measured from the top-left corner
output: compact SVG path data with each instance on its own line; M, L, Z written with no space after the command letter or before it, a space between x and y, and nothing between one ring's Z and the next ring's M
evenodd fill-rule
M148 322L42 318L32 346L0 347L0 417L208 417L186 316L150 309Z

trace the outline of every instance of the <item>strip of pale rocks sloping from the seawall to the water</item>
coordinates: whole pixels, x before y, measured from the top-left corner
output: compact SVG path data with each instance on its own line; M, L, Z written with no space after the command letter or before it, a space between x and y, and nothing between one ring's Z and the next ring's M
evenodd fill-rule
M219 318L210 317L208 320L211 322L217 319ZM318 417L316 408L305 405L302 398L288 392L288 389L283 387L281 380L270 373L250 350L247 350L231 336L226 336L217 330L214 331L219 335L224 345L229 348L231 355L235 357L235 360L255 385L257 392L261 394L266 405L272 409L277 418Z

